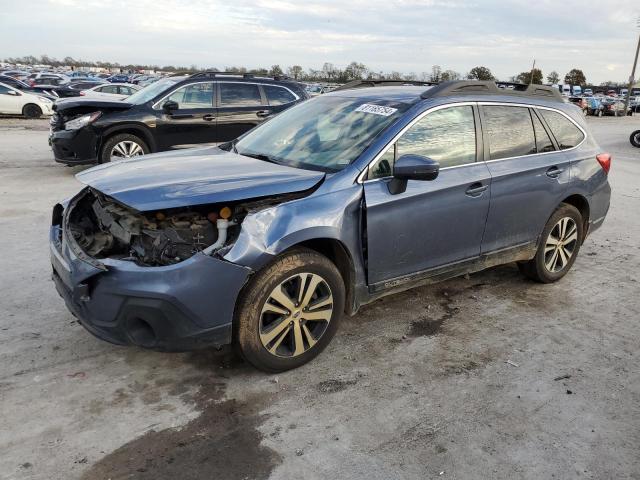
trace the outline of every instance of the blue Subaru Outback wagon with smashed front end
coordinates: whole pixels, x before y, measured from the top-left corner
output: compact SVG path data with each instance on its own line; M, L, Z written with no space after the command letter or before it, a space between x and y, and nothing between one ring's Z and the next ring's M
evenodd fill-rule
M234 343L276 372L390 293L507 262L557 281L602 225L611 157L553 88L348 87L79 174L50 233L69 310L115 344Z

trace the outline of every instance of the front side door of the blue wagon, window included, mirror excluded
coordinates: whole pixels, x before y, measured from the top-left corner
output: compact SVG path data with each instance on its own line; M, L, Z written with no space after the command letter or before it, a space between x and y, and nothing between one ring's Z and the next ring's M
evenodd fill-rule
M480 139L476 106L440 108L370 167L364 182L370 288L479 257L491 187ZM408 180L404 192L393 194L393 163L404 154L432 158L440 172L435 180Z

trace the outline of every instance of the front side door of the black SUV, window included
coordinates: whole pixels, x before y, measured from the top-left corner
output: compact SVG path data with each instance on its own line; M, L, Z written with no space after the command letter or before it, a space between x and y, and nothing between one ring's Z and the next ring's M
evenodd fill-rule
M159 150L186 147L216 141L216 117L213 82L191 83L178 88L159 105L156 122ZM164 103L178 104L165 112Z

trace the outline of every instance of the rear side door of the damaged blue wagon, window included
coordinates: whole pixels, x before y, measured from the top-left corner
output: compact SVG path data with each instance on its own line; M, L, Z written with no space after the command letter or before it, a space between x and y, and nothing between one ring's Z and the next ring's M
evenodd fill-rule
M482 104L491 208L482 253L535 242L563 199L567 156L552 140L542 108Z

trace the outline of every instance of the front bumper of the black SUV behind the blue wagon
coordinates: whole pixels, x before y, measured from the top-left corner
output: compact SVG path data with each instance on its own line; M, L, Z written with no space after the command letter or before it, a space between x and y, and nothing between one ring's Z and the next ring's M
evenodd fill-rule
M49 146L56 162L84 165L98 161L98 136L91 127L79 130L52 130Z

